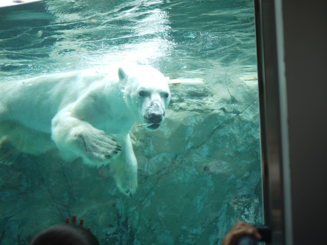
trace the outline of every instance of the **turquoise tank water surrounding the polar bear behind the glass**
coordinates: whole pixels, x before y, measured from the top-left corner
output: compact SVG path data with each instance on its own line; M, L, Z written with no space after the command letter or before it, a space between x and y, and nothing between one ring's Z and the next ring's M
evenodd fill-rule
M0 8L0 81L149 64L175 81L164 124L131 132L138 189L57 154L0 164L0 243L76 214L101 244L220 244L263 222L252 1L54 0ZM36 108L37 109L37 108Z

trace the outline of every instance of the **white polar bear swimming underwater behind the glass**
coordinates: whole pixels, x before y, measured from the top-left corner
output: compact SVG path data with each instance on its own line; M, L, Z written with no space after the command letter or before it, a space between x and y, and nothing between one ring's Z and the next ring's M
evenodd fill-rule
M109 164L119 189L131 196L137 162L129 132L136 121L159 128L171 99L168 83L147 65L121 66L103 79L75 71L0 83L1 143L30 154L57 147L67 160Z

